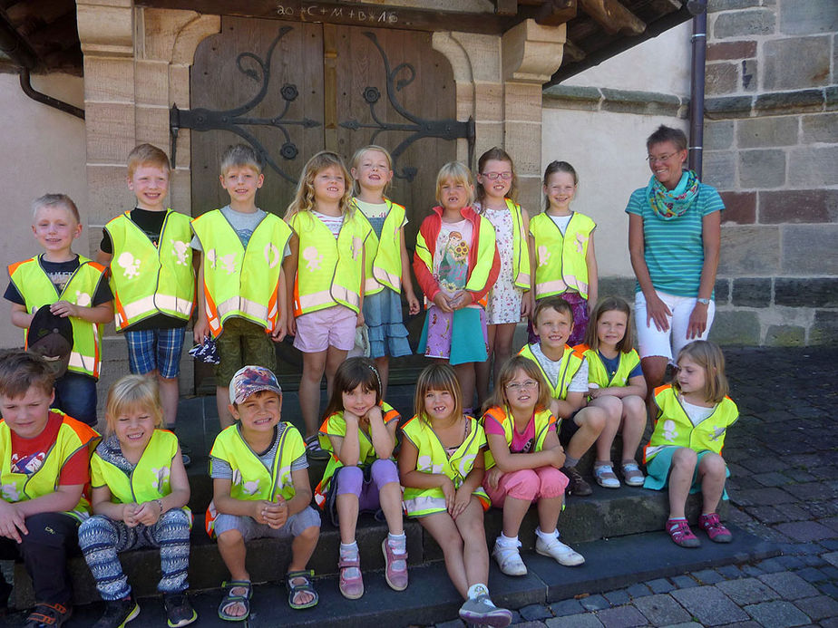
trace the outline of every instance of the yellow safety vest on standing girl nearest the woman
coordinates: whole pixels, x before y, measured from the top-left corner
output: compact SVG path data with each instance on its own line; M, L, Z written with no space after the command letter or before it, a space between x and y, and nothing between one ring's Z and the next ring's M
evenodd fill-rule
M547 214L530 220L535 245L535 298L561 295L569 289L588 298L588 244L596 223L584 214L573 212L561 235L559 227Z

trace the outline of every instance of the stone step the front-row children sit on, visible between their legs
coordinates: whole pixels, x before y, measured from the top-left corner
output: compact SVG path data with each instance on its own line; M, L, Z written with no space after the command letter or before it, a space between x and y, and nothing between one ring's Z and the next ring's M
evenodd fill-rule
M687 511L692 520L698 516L699 496L691 496ZM204 510L195 509L195 523L192 528L190 554L190 586L193 589L215 588L229 577L219 556L218 547L204 532ZM723 511L724 513L724 511ZM623 487L607 489L594 487L588 498L571 497L561 514L559 530L566 543L579 544L604 538L635 535L660 530L668 514L667 494L643 488ZM337 553L340 537L337 529L323 517L317 551L309 566L317 575L334 575L337 569ZM502 511L491 508L485 517L486 538L492 543L500 534ZM534 530L538 525L535 508L531 508L521 526L521 543L524 549L535 544ZM439 560L442 552L434 539L424 534L415 520L405 520L408 538L410 565L422 565ZM366 570L384 567L381 542L387 534L386 525L373 517L363 516L356 533L361 550L361 564ZM282 573L290 559L287 542L274 539L258 539L248 545L248 571L255 582L275 580ZM141 549L122 554L122 565L134 591L140 595L155 594L160 579L160 554L156 550ZM74 599L77 604L87 604L99 599L93 584L93 576L81 556L70 560L70 574L73 578ZM14 604L23 608L32 604L33 592L23 565L16 565Z

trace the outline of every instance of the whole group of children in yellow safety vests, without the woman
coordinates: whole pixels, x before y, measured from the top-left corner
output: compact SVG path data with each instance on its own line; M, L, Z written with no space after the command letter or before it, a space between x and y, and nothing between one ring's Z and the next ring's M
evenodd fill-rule
M307 571L320 527L314 498L340 530L339 588L347 598L364 593L356 544L364 511L380 510L388 526L382 543L388 585L407 587L404 511L441 546L465 600L463 620L505 626L512 614L492 604L487 588L484 511L490 504L503 510L491 552L502 573L526 573L518 532L532 503L536 551L561 565L581 565L584 558L557 530L564 496L592 492L577 470L592 447L594 478L619 488L611 460L619 430L619 476L629 486L668 487L667 531L678 545L698 545L684 517L687 494L698 489L700 527L716 542L730 540L715 513L726 477L719 452L737 415L726 398L718 348L687 345L677 358L676 382L654 391L659 412L644 477L636 455L647 390L632 348L630 311L618 298L598 302L595 224L570 210L576 172L566 162L548 166L545 211L530 219L514 201L509 155L489 150L478 166L476 198L463 164L443 166L440 205L416 237L413 270L427 306L419 351L434 363L416 384L414 417L401 425L385 401L388 360L411 353L402 293L410 314L420 304L404 242L405 210L385 197L393 170L383 148L359 150L351 169L335 153L317 153L283 220L256 206L264 181L256 153L230 147L220 175L229 205L190 221L166 208L165 154L141 145L129 157L137 207L105 227L101 264L72 252L81 225L69 198L34 202L33 231L44 254L9 267L6 298L13 301L13 322L29 328L30 338L34 314L44 306L56 319L69 318L73 351L57 380L52 365L31 353L0 361L0 557L15 541L33 576L38 604L30 625L57 625L69 616L66 575L61 569L44 574L43 561L49 555L46 564L65 564L76 537L107 603L97 626L121 626L139 613L118 558L138 546L161 548L159 590L169 625L197 618L184 595L192 518L188 455L171 431L195 302L193 255L199 305L193 336L204 346L217 343L219 357L222 431L210 451L213 500L205 521L230 574L222 619L248 616L246 547L264 536L291 541L288 604L317 604ZM114 313L134 375L109 392L104 438L90 458L87 449L98 436L90 426L99 325ZM512 333L525 316L530 343L512 356ZM372 359L347 360L359 328ZM281 420L282 391L273 372L273 343L287 334L303 354L303 435ZM329 403L321 415L324 374ZM314 491L308 459L328 459ZM90 501L83 490L88 480ZM66 542L44 543L44 529L60 529Z

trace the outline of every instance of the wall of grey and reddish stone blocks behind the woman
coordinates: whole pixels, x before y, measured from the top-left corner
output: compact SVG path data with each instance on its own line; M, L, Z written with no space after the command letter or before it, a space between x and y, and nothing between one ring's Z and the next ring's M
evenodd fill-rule
M722 193L715 335L838 338L838 2L710 0L704 179Z

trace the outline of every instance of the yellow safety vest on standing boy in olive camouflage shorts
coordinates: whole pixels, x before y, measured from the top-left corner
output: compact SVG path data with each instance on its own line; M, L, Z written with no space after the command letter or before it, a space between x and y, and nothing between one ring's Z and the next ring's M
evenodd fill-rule
M279 320L279 273L291 229L268 214L245 248L220 209L195 218L192 229L203 249L201 289L212 335L219 336L230 316L272 333Z

